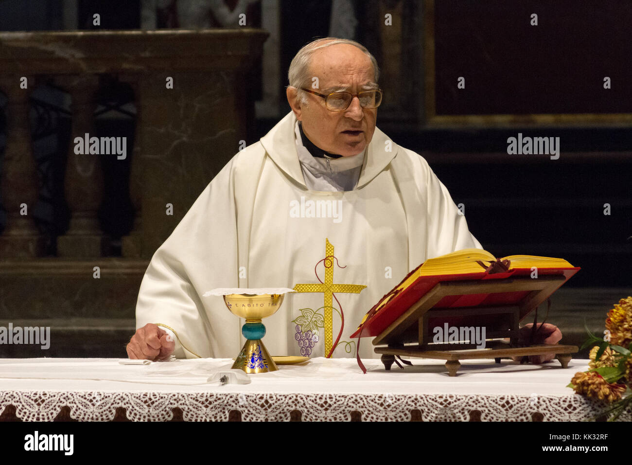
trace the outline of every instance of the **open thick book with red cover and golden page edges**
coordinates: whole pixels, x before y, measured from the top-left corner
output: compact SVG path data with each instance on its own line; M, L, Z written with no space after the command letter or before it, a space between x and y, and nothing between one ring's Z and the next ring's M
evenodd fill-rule
M532 278L563 275L560 286L573 276L576 268L561 258L511 255L496 259L482 249L463 249L426 260L404 277L368 311L351 337L379 335L399 315L404 313L439 282L487 280L502 278ZM447 296L435 308L500 306L516 304L526 297L527 291L493 294ZM521 315L523 318L525 315Z

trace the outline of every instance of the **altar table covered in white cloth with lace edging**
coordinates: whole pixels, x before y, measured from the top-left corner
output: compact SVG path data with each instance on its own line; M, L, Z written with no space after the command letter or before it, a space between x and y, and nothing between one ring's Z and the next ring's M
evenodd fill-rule
M567 388L588 360L532 365L411 359L385 371L366 359L314 358L250 375L250 384L204 384L231 359L122 365L119 359L0 359L0 419L52 421L581 421L605 404ZM179 384L176 384L179 383ZM202 384L200 384L202 383ZM123 410L125 409L125 410ZM630 421L629 414L620 417Z

